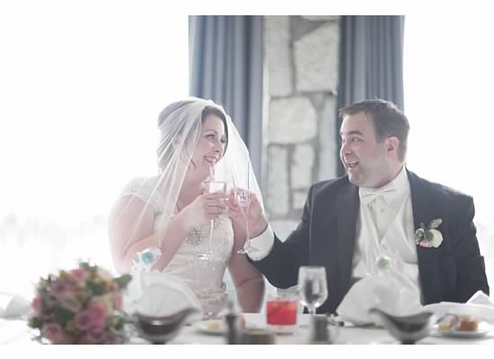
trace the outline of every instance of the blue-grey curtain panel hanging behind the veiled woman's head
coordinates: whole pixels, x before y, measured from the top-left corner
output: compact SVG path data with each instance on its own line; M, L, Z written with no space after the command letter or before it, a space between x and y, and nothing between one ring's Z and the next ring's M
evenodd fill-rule
M221 104L251 154L260 179L262 16L190 16L190 95Z

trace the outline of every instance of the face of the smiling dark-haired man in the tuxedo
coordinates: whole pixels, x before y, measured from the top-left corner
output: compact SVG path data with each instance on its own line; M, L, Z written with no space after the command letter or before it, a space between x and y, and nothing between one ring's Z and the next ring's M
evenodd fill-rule
M340 159L351 183L359 187L380 188L389 182L388 141L377 141L370 115L359 112L345 116L340 136Z

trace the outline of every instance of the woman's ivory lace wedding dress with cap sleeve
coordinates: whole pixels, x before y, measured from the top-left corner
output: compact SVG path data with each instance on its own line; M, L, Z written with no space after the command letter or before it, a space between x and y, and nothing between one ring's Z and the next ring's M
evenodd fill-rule
M154 212L154 232L159 230L162 217L163 197L155 190L158 177L136 178L124 188L121 196L133 196L148 203ZM211 242L214 259L198 257L209 249L209 223L190 231L181 247L162 273L181 278L198 297L204 315L216 314L225 307L225 269L232 256L234 230L227 215L215 220ZM138 270L137 267L134 270Z

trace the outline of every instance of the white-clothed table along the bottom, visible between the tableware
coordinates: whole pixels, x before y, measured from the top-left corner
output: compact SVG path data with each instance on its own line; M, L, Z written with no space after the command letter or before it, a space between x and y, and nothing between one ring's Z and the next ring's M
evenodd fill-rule
M245 313L246 328L265 328L265 316L260 313ZM275 344L281 345L300 345L307 344L309 341L310 329L308 326L309 318L307 314L299 314L298 325L295 333L275 336ZM484 336L478 338L463 337L441 337L433 335L426 337L418 344L480 344L494 345L494 326L492 330ZM335 344L396 344L396 340L384 328L376 327L355 327L351 324L339 328L339 336ZM25 320L3 320L0 319L0 344L13 345L39 345L38 342L31 339L34 331L28 328ZM131 337L129 344L147 344L146 340L140 337ZM184 325L177 337L172 339L169 344L175 345L221 345L225 344L225 336L221 333L207 334L198 328L194 323Z

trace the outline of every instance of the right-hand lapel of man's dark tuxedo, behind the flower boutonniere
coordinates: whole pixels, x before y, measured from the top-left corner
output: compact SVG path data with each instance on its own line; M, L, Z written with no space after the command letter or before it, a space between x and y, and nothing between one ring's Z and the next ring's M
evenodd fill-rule
M407 171L410 181L411 207L413 212L414 228L417 230L420 223L428 225L430 221L437 218L434 213L434 203L428 193L428 187L424 184L415 173ZM419 259L419 277L422 289L422 302L438 302L440 293L438 288L441 278L438 276L440 268L438 267L438 250L435 248L424 248L417 246L417 258Z

